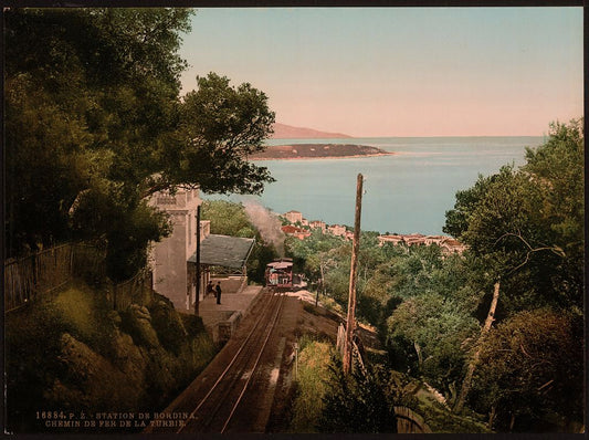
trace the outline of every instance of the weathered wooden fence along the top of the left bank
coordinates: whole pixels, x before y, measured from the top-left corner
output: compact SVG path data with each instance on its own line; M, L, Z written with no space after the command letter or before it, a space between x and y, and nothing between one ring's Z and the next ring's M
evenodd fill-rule
M4 261L4 313L15 311L64 287L73 279L102 284L114 310L151 301L151 272L145 270L114 284L106 276L106 253L86 243L66 243L20 259Z

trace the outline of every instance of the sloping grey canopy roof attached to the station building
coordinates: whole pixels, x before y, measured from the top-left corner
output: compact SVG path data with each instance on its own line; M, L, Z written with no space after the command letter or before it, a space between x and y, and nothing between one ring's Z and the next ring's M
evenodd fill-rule
M200 264L241 269L245 265L254 242L254 239L210 234L200 243ZM197 262L196 252L188 262Z

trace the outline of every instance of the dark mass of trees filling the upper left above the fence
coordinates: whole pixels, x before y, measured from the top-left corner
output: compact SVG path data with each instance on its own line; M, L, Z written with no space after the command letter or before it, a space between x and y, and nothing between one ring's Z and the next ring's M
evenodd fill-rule
M180 99L187 64L178 49L189 15L181 8L6 11L9 256L95 240L120 280L167 232L146 203L155 191L261 192L272 180L246 160L274 121L262 92L211 73Z

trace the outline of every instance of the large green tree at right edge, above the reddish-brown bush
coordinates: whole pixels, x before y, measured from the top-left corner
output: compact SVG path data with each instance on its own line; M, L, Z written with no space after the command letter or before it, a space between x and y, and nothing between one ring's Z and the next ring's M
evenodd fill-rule
M501 276L507 314L543 304L582 308L581 127L554 124L545 145L527 150L525 166L481 177L446 212L444 230Z

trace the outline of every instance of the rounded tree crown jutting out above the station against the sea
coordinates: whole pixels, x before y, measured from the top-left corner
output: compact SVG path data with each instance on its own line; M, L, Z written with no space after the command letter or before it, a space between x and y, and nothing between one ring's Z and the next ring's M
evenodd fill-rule
M147 179L144 195L178 186L261 193L273 179L248 156L263 150L272 133L266 95L248 83L232 87L212 72L198 77L198 87L183 97L178 130L161 149L160 169Z

